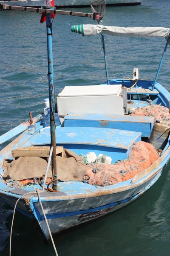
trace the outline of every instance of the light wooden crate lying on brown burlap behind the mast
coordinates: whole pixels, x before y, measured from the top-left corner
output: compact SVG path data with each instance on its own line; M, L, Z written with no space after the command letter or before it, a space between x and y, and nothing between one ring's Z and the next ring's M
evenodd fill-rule
M63 157L63 147L56 147L56 155L61 154ZM12 150L12 157L15 160L15 157L49 157L50 155L50 147L42 146L42 147L26 147L26 148L18 148Z

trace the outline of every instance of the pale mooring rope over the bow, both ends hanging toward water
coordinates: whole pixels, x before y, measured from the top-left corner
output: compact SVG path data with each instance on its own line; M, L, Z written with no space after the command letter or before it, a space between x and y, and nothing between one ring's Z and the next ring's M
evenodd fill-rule
M36 189L36 188L34 188ZM44 212L44 208L42 206L42 202L41 202L41 198L40 198L40 192L42 192L40 189L37 189L37 195L38 195L38 199L40 201L40 206L41 206L41 209L42 209L42 212L43 212L43 215L44 215L44 218L45 218L45 222L47 224L47 227L48 227L48 231L49 231L49 234L50 234L50 237L51 237L51 241L52 241L52 244L53 244L53 247L54 247L54 251L56 253L56 256L58 256L58 253L57 253L57 249L55 247L55 244L54 244L54 240L53 240L53 237L52 237L52 234L51 234L51 230L50 230L50 227L48 225L48 221L47 221L47 218L46 218L46 215L45 215L45 212ZM13 229L13 224L14 224L14 216L15 216L15 211L16 211L16 207L17 207L17 203L18 201L20 201L21 198L23 198L24 196L28 195L28 194L34 194L35 192L28 192L26 193L25 195L22 195L20 198L18 198L17 202L15 203L15 206L14 206L14 213L13 213L13 217L12 217L12 223L11 223L11 233L10 233L10 241L9 241L9 256L11 256L11 239L12 239L12 229Z

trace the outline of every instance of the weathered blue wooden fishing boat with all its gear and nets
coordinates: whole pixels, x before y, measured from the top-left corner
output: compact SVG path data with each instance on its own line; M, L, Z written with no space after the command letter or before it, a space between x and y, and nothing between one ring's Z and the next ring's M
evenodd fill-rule
M14 138L0 151L0 196L31 218L50 241L51 234L135 201L167 165L170 93L157 79L170 29L104 26L105 1L92 0L93 13L59 11L47 3L42 9L8 5L1 9L41 12L46 19L49 102L45 100L41 114L32 118L30 113L29 121L0 136L0 144ZM65 87L57 96L57 113L51 29L55 14L94 19L94 25L71 26L71 31L101 36L107 80ZM141 80L135 68L132 79L108 79L105 34L165 38L156 78Z

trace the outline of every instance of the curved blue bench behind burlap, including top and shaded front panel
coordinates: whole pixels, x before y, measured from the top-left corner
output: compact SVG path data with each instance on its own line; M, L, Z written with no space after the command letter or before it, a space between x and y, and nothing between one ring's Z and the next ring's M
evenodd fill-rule
M116 160L128 157L134 142L141 140L141 133L94 127L56 128L56 145L62 145L77 154L95 152L106 154ZM42 128L33 145L49 145L50 128Z

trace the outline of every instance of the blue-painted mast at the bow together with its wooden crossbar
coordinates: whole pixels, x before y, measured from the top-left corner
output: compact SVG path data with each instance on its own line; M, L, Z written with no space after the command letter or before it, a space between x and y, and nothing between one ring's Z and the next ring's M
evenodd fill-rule
M49 87L49 100L50 100L50 134L51 134L51 147L53 146L53 153L51 157L52 169L52 190L57 190L57 163L56 163L56 134L55 134L55 87L54 87L54 68L53 68L53 52L52 52L52 22L51 14L71 15L78 17L93 18L93 13L85 12L69 12L63 10L56 10L51 6L51 0L45 0L43 8L24 7L24 6L8 6L7 4L0 4L0 11L21 10L27 12L45 13L46 14L46 31L47 31L47 54L48 54L48 87ZM42 21L43 22L43 21Z

